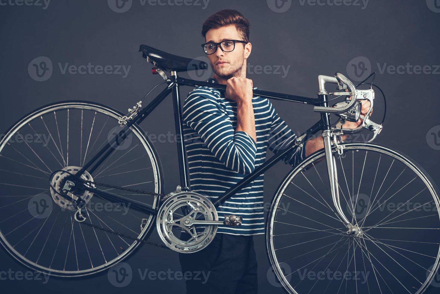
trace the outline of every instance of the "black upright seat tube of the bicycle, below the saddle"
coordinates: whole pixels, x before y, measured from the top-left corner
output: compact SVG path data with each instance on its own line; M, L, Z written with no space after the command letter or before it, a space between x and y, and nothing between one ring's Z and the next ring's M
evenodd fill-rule
M174 110L174 122L176 127L177 155L179 157L180 186L182 187L182 190L189 191L190 184L187 173L187 153L185 149L185 142L183 140L183 119L180 106L180 91L179 84L176 82L176 80L177 72L171 71L171 82L174 83L172 85L172 104Z

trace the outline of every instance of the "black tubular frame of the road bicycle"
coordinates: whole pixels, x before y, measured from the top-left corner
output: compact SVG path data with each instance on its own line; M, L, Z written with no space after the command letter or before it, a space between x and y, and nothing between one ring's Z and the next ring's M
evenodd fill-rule
M107 144L99 150L99 152L87 162L87 164L84 165L83 168L81 168L80 171L78 171L75 174L75 177L79 179L79 177L84 173L84 171L88 171L90 174L92 174L93 171L96 170L96 168L99 167L100 164L103 163L103 161L110 156L111 153L117 148L111 148L116 145L120 145L125 138L129 134L131 134L130 127L133 124L140 124L153 110L158 106L164 99L169 95L169 93L172 93L172 101L173 101L173 110L174 110L174 120L175 120L175 127L176 127L176 137L180 138L180 140L177 140L177 149L178 149L178 159L179 159L179 170L180 170L180 186L182 187L183 191L190 190L190 184L189 184L189 177L188 177L188 167L187 167L187 156L186 156L186 149L184 145L183 140L183 129L182 129L182 111L181 111L181 105L180 105L180 86L207 86L214 89L224 90L226 89L226 85L221 84L214 84L209 82L199 82L194 81L191 79L186 78L180 78L177 76L176 72L172 72L170 82L168 83L168 86L156 97L154 98L145 108L141 109L136 115L134 119L131 121L129 120L127 125L110 141L107 142ZM289 94L282 94L282 93L275 93L275 92L268 92L268 91L262 91L262 90L253 90L254 96L259 97L265 97L268 99L274 99L274 100L286 100L286 101L292 101L297 103L304 103L304 104L320 104L321 106L328 107L328 96L327 95L318 95L318 99L316 98L309 98L309 97L303 97L303 96L297 96L297 95L289 95ZM293 149L296 149L299 147L300 144L304 144L305 141L308 140L311 136L316 134L319 130L330 130L331 123L330 123L330 114L329 113L321 113L321 119L315 123L312 127L308 128L301 136L298 138L302 138L300 142L296 142L295 145L288 147L279 153L276 153L274 156L272 156L269 160L266 160L260 167L255 169L251 174L247 175L245 178L243 178L240 182L235 184L235 186L231 187L229 190L227 190L224 194L222 194L220 197L216 199L216 201L213 203L215 207L218 207L219 205L223 204L224 201L228 200L231 196L233 196L235 193L237 193L239 190L241 190L243 187L245 187L247 184L252 182L254 179L256 179L259 175L264 173L264 171L268 170L270 167L272 167L274 164L276 164L279 160L281 160L286 153L291 152ZM95 164L94 164L95 163ZM92 164L94 164L92 166ZM91 167L91 168L89 168ZM118 203L126 203L129 204L131 208L139 210L141 212L145 212L152 215L157 215L158 210L151 208L141 202L132 201L131 199L126 199L124 197L114 195L107 193L102 190L97 190L93 188L89 188L87 186L83 187L85 190L89 190L96 194L98 197L103 198L106 201L110 202L118 202Z

